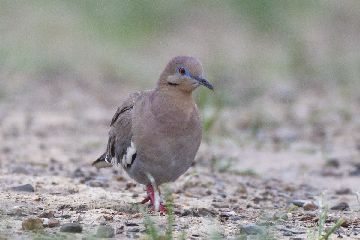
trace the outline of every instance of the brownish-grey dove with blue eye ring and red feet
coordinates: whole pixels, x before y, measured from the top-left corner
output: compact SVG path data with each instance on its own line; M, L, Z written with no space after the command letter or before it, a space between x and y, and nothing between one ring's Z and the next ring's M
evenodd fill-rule
M192 91L213 86L203 76L203 67L191 56L170 60L154 90L130 94L111 121L106 152L93 166L122 167L131 178L147 186L155 209L154 189L175 181L193 163L202 138L202 121ZM159 210L167 212L162 204Z

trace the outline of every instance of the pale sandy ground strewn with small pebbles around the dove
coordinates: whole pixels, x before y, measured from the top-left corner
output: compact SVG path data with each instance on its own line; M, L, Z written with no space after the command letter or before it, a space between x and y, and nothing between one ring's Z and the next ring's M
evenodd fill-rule
M145 197L144 186L119 168L91 168L105 150L117 105L131 92L110 90L104 98L71 82L29 85L1 102L0 239L93 239L102 225L117 231L114 239L147 239L146 219L132 218L139 210L131 205ZM337 90L274 89L253 104L220 110L193 166L162 187L188 214L174 216L171 229L165 214L150 219L159 236L169 230L174 239L246 239L242 226L256 223L268 234L247 239L305 240L318 209L289 210L294 200L318 204L326 190L324 205L350 207L328 211L327 227L341 217L348 223L329 239L359 239L359 164L359 99L344 100ZM25 184L35 191L13 190ZM51 218L69 218L56 218L60 226L53 228L42 218L44 229L22 229L25 219L48 210ZM70 222L82 232L60 232ZM284 236L283 228L299 234Z

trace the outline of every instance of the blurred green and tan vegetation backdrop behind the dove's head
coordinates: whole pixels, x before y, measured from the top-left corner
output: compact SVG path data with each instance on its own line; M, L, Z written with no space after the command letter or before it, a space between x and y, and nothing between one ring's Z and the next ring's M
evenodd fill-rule
M138 91L184 54L203 63L211 105L281 85L339 87L350 98L360 90L359 12L359 1L336 0L3 0L0 92L57 71Z

